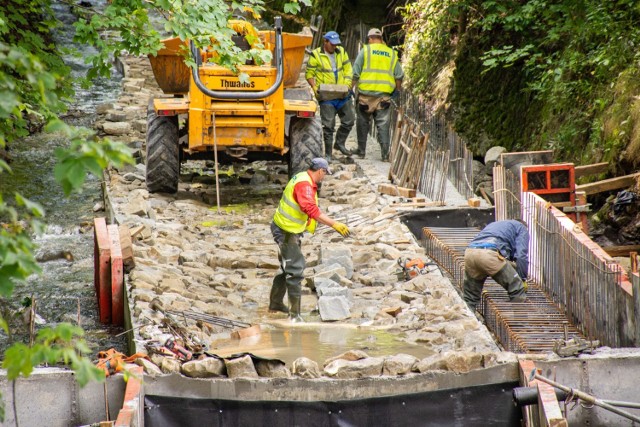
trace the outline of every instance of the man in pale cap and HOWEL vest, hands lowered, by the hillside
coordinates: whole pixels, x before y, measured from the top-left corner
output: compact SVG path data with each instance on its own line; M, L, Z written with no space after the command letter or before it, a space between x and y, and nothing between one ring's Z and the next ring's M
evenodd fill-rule
M391 98L397 99L402 88L404 72L398 53L384 44L382 31L372 28L365 45L353 63L353 87L357 88L358 151L364 158L371 117L376 125L382 160L389 160L389 125Z

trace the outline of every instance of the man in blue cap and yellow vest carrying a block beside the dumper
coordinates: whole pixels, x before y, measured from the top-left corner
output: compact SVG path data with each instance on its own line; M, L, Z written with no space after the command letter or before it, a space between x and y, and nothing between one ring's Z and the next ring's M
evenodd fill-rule
M316 94L320 103L320 118L322 120L322 134L324 139L324 155L331 161L331 146L342 154L350 156L351 150L345 146L347 136L356 122L356 112L353 107L351 90L344 97L327 95L318 92L320 85L344 85L345 89L351 89L351 61L343 47L338 46L342 42L335 31L329 31L323 37L322 46L314 49L309 55L305 78L311 89ZM333 142L333 133L336 128L336 114L340 117L340 127L336 132L336 141Z

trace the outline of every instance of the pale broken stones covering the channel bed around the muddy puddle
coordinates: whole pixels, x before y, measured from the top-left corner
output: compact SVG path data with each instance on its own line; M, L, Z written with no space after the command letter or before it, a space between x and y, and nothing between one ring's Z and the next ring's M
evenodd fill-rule
M123 60L123 94L100 110L103 120L97 126L128 143L142 159L147 100L158 90L146 59ZM114 131L116 128L119 130ZM424 250L389 209L394 198L377 193L376 182L381 177L369 173L370 163L335 163L334 175L323 182L321 209L349 225L352 235L344 239L325 227L303 239L308 278L303 313L318 310L322 321L390 328L409 342L424 346L431 356L417 360L407 355L377 358L351 352L325 361L323 370L314 367L317 362L298 359L291 368L293 375L342 378L433 369L463 372L498 363L502 360L500 351L489 332L439 270L411 281L398 276L398 258L424 258ZM211 166L189 162L183 172L191 173L183 173L175 195L148 193L143 163L106 174L107 209L118 224L133 230L136 266L127 277L127 291L137 350L144 351L146 344L157 343L167 334L162 313L152 307L154 300L169 310L250 324L274 316L267 313L266 306L279 263L269 223L287 181L286 169L279 162L235 165L237 178L220 180L219 197L226 203L216 208L218 195ZM186 334L213 352L212 337L223 333L220 328L188 319L182 326ZM246 365L240 372L251 371L246 357L240 361L205 358L184 364L169 359L156 360L161 371L235 376L234 364ZM288 372L284 367L263 375L265 371L259 366L264 364L254 363L255 357L249 359L257 376Z

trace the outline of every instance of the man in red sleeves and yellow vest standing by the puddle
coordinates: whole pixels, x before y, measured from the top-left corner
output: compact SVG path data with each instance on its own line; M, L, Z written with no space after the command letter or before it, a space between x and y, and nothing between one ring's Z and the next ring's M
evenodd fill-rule
M343 237L350 234L349 227L329 218L318 207L318 183L325 175L331 175L329 163L322 157L311 160L309 169L296 174L285 187L271 222L271 234L278 244L280 270L273 278L269 311L289 313L293 322L303 321L300 317L300 296L306 263L301 248L302 234L305 231L313 234L318 222L328 225ZM285 292L289 294L289 307L283 302Z

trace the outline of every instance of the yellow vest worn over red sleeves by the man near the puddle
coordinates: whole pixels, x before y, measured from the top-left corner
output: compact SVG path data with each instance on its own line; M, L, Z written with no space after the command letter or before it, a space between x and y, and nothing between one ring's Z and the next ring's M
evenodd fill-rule
M304 171L297 173L293 178L289 180L287 186L284 188L282 198L280 198L280 204L278 210L273 216L273 222L278 227L289 233L302 233L307 230L311 234L316 231L318 222L315 219L309 220L309 216L300 209L300 205L293 197L293 187L299 182L308 182L313 185L311 176ZM318 193L316 192L316 205L318 204Z

